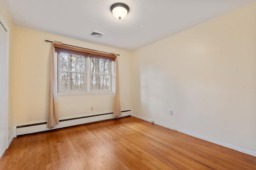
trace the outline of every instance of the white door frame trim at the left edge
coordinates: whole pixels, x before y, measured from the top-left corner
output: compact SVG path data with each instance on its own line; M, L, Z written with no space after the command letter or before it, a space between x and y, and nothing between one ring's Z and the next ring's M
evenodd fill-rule
M7 54L7 59L6 59L6 149L9 147L9 37L10 37L10 29L8 27L8 25L6 24L6 22L4 21L4 18L2 17L2 15L0 14L0 26L2 25L2 27L5 29L6 33L7 33L7 49L6 49L6 54Z

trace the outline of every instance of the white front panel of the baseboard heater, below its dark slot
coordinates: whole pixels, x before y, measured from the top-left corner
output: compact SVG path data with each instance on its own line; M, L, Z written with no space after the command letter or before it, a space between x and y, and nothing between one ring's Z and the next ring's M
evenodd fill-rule
M124 112L122 112L121 116L116 117L116 118L130 116L131 113L132 113L132 111L124 111ZM106 114L106 115L96 115L93 117L85 117L85 118L73 119L73 120L67 120L67 121L60 121L60 124L56 125L52 129L59 129L59 128L63 128L63 127L81 125L81 124L86 124L86 123L93 123L93 122L97 122L97 121L104 121L104 120L110 120L110 119L116 119L116 118L113 117L113 114ZM17 126L14 126L15 131L16 131L16 136L52 130L52 129L47 128L46 124L33 125L33 126L28 126L28 127L20 127L20 128L16 128L16 127Z

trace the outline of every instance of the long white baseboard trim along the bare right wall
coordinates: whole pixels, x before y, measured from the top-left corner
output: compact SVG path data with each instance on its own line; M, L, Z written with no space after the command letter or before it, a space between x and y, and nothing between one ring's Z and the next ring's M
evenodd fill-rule
M142 117L142 116L138 116L138 115L134 115L132 114L133 117L136 117L136 118L139 118L139 119L142 119L144 121L148 121L150 123L154 123L156 125L160 125L160 126L163 126L163 127L166 127L168 129L172 129L174 131L178 131L178 132L181 132L181 133L184 133L186 135L190 135L190 136L193 136L193 137L196 137L196 138L199 138L199 139L202 139L204 141L208 141L208 142L211 142L211 143L215 143L217 145L221 145L223 147L226 147L226 148L229 148L229 149L233 149L233 150L236 150L236 151L239 151L239 152L243 152L245 154L249 154L249 155L252 155L252 156L256 156L256 151L255 150L250 150L250 149L246 149L246 148L242 148L242 147L238 147L236 145L232 145L232 144L229 144L229 143L226 143L226 142L223 142L223 141L218 141L216 139L212 139L210 137L206 137L206 136L203 136L203 135L198 135L196 133L193 133L193 132L190 132L190 131L186 131L184 129L180 129L180 128L177 128L177 127L173 127L171 125L167 125L165 123L161 123L161 122L158 122L158 121L154 121L154 120L151 120L151 119L148 119L146 117Z

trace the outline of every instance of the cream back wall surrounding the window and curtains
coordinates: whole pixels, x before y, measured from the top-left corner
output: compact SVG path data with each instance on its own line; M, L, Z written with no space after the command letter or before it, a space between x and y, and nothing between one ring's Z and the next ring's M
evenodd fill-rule
M15 27L14 125L47 120L51 43L45 39L120 54L121 108L131 109L131 52ZM113 96L58 96L60 119L112 112ZM94 111L90 111L91 106Z

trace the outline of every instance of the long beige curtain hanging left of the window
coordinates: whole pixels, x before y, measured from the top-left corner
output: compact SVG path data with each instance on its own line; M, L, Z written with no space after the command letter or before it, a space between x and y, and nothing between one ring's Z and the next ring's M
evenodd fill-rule
M49 115L47 121L47 127L53 128L59 124L59 112L58 112L58 98L57 98L57 70L55 68L55 48L54 44L61 44L59 42L52 43L52 56L50 66L50 100L49 100Z

